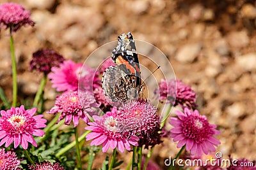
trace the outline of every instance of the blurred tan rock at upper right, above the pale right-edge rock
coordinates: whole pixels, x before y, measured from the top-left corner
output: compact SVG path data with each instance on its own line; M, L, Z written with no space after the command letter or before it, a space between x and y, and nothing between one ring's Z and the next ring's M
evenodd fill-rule
M247 31L230 32L227 36L228 44L234 48L242 48L250 43Z

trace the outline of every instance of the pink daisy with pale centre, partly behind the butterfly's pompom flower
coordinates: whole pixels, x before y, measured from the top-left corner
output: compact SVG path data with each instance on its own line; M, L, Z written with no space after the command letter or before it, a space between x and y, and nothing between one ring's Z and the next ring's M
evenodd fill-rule
M91 130L90 134L86 136L86 141L92 140L91 146L101 145L102 152L107 152L109 148L117 148L120 152L131 150L131 146L138 146L139 138L129 132L120 132L118 129L118 120L116 119L116 108L108 111L106 115L99 117L93 116L95 122L89 122L86 130Z

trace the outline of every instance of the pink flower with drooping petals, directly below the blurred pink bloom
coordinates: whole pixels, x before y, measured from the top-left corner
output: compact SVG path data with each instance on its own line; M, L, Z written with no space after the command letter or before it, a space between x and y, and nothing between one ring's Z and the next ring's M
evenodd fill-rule
M84 97L79 98L77 91L63 92L61 96L57 96L53 108L46 113L61 113L58 122L65 118L65 125L70 125L70 122L73 120L74 127L76 127L79 123L79 118L82 118L87 124L89 119L86 116L86 112L93 114L94 110L92 107L97 105L95 105L92 94L88 91L85 91L83 95Z

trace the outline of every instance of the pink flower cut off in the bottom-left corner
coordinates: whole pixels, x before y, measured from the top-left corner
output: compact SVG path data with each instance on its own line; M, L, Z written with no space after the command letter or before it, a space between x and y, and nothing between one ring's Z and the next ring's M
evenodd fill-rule
M4 148L0 148L0 169L3 170L13 170L20 169L20 160L17 158L15 152L7 151Z

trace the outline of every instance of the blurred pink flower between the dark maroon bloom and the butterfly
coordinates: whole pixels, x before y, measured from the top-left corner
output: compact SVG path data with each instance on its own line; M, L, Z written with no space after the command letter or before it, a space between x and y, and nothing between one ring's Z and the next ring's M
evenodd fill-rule
M90 89L95 74L92 68L72 60L65 60L60 67L52 67L51 71L52 73L49 73L48 77L51 79L52 87L56 88L58 92L76 91L78 83L79 89Z

